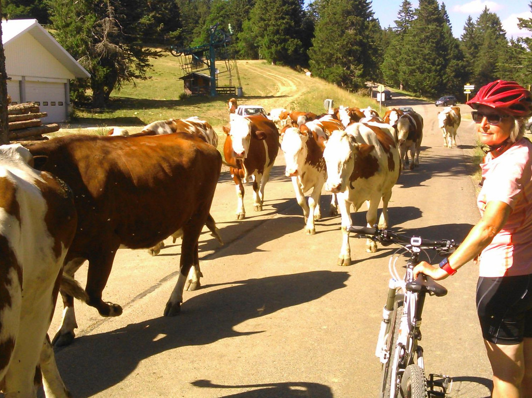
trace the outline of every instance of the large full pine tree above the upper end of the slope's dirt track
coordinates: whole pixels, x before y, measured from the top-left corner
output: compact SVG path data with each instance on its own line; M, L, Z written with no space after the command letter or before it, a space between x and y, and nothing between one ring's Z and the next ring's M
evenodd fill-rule
M358 89L378 71L378 21L365 0L320 2L310 68L315 76L340 87Z

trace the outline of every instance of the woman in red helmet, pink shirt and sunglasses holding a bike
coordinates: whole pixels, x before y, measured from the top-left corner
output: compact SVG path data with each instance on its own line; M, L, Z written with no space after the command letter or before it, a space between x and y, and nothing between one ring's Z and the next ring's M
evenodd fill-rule
M497 80L467 102L481 143L477 204L481 219L438 266L421 262L414 277L453 275L479 256L477 311L493 370L493 397L532 397L532 143L525 123L532 95Z

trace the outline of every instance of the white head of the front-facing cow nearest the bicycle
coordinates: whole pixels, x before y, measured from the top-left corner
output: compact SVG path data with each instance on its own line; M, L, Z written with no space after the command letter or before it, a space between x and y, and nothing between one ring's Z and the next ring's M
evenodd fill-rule
M345 131L335 130L332 132L325 151L323 151L323 158L327 165L326 190L338 193L347 189L358 146L355 137Z

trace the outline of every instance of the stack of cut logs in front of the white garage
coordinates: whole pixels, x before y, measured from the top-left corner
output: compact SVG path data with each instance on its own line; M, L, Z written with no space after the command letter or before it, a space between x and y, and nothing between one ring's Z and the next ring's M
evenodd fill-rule
M47 115L46 112L40 112L39 107L32 102L8 105L9 139L46 139L42 136L43 134L59 130L57 123L43 125L39 118L45 118Z

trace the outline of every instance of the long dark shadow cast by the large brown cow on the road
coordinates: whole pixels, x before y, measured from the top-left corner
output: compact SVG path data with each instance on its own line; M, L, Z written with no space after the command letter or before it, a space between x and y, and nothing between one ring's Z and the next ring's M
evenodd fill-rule
M246 320L320 299L345 287L348 278L345 271L310 271L231 281L227 287L219 285L217 290L190 298L177 317L148 319L108 333L78 337L74 344L56 352L57 365L73 396L92 396L120 383L141 361L153 355L262 333L236 331L235 326L241 327ZM182 372L179 366L179 361L165 364L165 367L175 367L169 370L176 374ZM286 389L281 384L273 391ZM326 387L321 387L327 391Z

